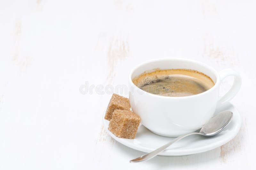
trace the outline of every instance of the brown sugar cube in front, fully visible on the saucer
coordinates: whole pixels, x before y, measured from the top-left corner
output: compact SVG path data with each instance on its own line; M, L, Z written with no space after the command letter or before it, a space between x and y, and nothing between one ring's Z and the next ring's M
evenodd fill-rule
M140 125L140 117L130 110L115 110L108 130L119 138L134 139Z

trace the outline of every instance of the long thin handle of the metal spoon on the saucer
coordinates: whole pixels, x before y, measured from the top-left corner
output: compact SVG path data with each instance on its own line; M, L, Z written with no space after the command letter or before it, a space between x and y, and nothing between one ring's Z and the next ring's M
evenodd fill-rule
M167 144L161 146L160 148L156 149L155 151L146 153L145 155L142 155L142 156L140 156L138 158L130 160L130 162L133 163L133 162L140 162L140 161L151 159L151 158L155 157L158 153L162 152L165 148L167 148L168 146L172 145L173 143L179 141L182 138L185 138L185 137L187 137L189 135L194 135L194 134L201 134L201 133L192 132L192 133L188 133L188 134L182 135L182 136L180 136L178 138L175 138L171 142L168 142Z

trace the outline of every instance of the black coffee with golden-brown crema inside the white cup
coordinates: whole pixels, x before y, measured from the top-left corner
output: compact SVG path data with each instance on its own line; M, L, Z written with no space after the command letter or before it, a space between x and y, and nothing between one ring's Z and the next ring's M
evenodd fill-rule
M209 76L190 69L155 69L140 74L132 82L146 92L172 97L196 95L214 86Z

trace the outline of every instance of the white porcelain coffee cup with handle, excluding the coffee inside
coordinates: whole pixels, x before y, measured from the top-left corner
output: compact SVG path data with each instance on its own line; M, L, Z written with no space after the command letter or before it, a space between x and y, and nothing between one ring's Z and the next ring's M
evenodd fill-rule
M133 84L134 77L156 68L197 70L211 77L215 85L197 95L169 97L145 92ZM219 97L220 81L227 76L234 76L234 83L224 96ZM157 59L135 67L129 75L129 85L132 89L129 94L131 108L140 116L141 124L156 134L177 137L202 127L213 116L217 106L232 99L240 89L241 77L232 69L217 72L193 60Z

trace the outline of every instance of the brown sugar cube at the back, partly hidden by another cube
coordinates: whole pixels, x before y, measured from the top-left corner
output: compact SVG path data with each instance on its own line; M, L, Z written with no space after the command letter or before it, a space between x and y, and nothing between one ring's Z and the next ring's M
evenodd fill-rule
M128 98L119 96L114 93L108 103L108 108L104 119L110 120L112 118L114 110L116 109L130 110L130 108L131 106Z

